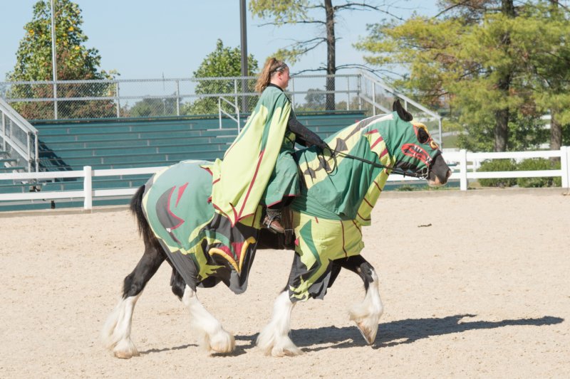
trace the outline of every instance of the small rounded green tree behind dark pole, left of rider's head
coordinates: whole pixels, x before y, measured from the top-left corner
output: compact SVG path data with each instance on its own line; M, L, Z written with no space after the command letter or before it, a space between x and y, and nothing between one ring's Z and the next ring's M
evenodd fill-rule
M253 55L247 57L248 76L253 76L257 72L258 63ZM190 105L183 108L186 114L212 114L218 112L218 97L210 96L214 94L233 94L242 92L242 80L223 79L227 77L238 77L242 75L242 52L239 48L229 48L224 46L222 40L216 42L216 49L209 53L199 68L194 72L194 77L198 79L195 93L205 95ZM204 78L221 78L207 80ZM245 91L251 92L253 87L246 81ZM231 101L231 99L228 99ZM254 99L255 100L255 99ZM249 99L251 107L251 98ZM255 100L257 101L257 100Z

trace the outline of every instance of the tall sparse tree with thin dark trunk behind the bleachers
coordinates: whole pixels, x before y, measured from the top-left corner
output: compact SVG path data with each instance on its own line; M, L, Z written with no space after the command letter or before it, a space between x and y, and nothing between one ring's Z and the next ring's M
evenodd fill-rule
M327 75L334 75L341 68L354 68L358 65L337 65L336 64L336 30L335 26L338 14L341 11L380 11L390 14L385 3L378 6L375 2L345 1L343 4L333 5L332 0L250 0L249 10L253 16L259 18L269 18L268 24L273 26L284 26L285 24L306 24L319 27L318 35L307 37L301 41L295 41L290 46L280 48L275 55L289 63L295 63L299 58L314 50L323 43L326 44L326 65L314 69L314 71L325 70ZM335 90L334 78L327 78L326 90ZM326 109L334 110L334 93L326 94Z

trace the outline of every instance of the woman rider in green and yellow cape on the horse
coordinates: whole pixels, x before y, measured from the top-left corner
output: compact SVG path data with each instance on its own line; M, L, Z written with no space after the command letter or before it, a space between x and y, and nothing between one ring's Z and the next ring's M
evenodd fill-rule
M261 204L266 207L264 226L284 233L281 209L300 191L294 144L327 146L297 121L284 93L289 79L286 63L276 58L266 61L255 85L261 93L255 110L219 164L212 203L232 225L252 215Z

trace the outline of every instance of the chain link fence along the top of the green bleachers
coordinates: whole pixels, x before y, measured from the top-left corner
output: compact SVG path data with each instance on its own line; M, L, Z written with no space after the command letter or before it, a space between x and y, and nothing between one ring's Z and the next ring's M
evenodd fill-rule
M219 97L251 112L257 78L0 82L0 95L26 119L218 114ZM360 110L360 75L297 75L286 93L299 111ZM228 106L229 107L229 106ZM226 112L235 113L229 107Z

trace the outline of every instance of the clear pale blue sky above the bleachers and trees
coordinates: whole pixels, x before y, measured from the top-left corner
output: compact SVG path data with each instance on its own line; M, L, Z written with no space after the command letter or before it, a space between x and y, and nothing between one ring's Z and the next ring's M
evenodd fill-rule
M238 0L75 0L82 10L86 46L97 48L103 70L118 70L122 79L190 78L218 38L224 46L238 47ZM0 81L14 68L16 50L31 21L36 0L0 0ZM333 4L341 1L333 1ZM435 0L393 1L396 14L437 13ZM400 7L398 9L397 7ZM343 11L336 26L337 65L363 63L361 51L352 47L366 36L366 24L383 18L372 11ZM278 48L293 39L312 37L313 26L273 26L247 12L248 53L262 65ZM302 58L291 70L316 68L326 61L319 48ZM346 73L349 73L348 71Z

